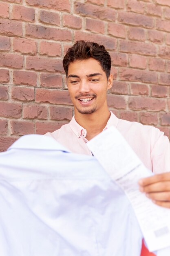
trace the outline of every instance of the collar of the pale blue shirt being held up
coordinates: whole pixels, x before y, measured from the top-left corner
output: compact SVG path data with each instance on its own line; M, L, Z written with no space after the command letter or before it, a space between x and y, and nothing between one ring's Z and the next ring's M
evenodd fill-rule
M43 135L24 135L15 141L10 149L38 149L38 150L60 150L63 152L70 152L63 145L58 143L55 139Z

